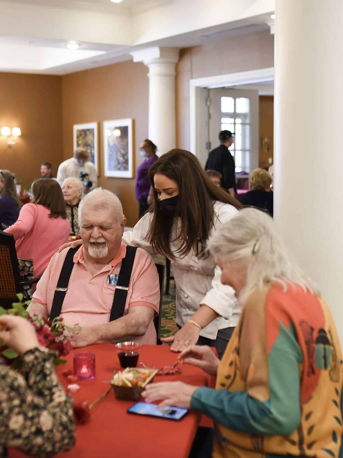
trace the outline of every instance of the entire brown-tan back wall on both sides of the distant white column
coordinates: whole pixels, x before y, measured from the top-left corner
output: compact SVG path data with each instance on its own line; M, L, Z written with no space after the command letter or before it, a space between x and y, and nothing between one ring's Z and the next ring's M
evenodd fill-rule
M189 149L189 80L273 66L273 36L269 32L236 38L221 36L182 49L177 64L177 146ZM102 121L135 120L134 169L142 163L139 143L148 133L148 69L131 61L64 76L0 73L0 126L18 125L19 144L8 148L0 138L0 167L29 183L39 165L58 164L73 154L73 125L99 123L98 184L118 194L127 224L138 218L134 179L104 177ZM63 152L63 153L62 153Z

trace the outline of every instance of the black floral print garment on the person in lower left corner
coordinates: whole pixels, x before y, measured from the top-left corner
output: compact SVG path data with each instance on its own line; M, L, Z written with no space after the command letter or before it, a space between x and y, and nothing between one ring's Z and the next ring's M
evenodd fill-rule
M48 457L74 446L73 401L54 373L54 356L27 351L21 374L0 363L0 458L6 447Z

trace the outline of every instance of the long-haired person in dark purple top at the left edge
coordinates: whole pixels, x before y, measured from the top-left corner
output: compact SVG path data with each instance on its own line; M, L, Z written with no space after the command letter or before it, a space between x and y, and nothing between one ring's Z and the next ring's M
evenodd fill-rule
M0 170L0 229L16 222L20 211L16 185L9 170Z

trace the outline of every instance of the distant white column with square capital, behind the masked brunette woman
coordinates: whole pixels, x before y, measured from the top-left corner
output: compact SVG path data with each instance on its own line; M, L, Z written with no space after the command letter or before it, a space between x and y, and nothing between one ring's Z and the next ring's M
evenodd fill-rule
M131 55L134 62L143 62L149 68L148 137L161 155L176 147L175 65L179 49L155 46Z

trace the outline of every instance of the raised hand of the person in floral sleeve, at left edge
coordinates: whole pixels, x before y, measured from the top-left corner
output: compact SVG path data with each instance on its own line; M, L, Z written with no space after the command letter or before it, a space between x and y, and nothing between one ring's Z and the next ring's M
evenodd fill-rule
M0 339L20 355L39 347L35 328L21 316L1 315L0 328Z

